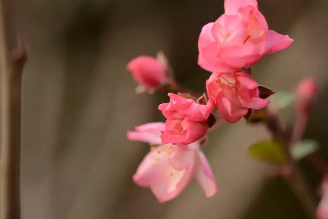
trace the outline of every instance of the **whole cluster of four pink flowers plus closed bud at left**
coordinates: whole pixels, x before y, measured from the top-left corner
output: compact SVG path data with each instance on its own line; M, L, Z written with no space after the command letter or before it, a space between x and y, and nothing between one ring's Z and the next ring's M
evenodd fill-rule
M212 72L205 83L208 99L169 93L170 101L158 106L165 123L144 124L127 133L129 140L151 144L133 180L150 187L159 202L175 198L193 178L206 197L216 193L215 177L200 150L212 111L216 108L224 120L235 123L250 109L266 107L269 100L261 97L248 70L264 55L293 42L268 29L256 0L225 0L224 9L215 22L202 28L198 39L198 64ZM142 91L172 85L168 64L156 58L139 56L127 68Z

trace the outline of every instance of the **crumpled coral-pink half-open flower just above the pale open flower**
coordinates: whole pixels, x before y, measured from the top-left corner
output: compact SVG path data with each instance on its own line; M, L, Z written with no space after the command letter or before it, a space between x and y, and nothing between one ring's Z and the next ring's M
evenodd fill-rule
M168 96L170 102L158 106L167 119L166 130L161 135L162 143L190 144L204 137L209 128L206 120L214 108L213 103L208 101L201 105L173 93Z

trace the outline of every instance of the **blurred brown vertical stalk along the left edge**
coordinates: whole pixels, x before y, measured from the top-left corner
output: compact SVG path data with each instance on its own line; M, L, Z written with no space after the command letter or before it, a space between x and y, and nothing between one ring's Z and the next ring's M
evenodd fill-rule
M0 0L0 219L20 218L21 85L14 1Z

